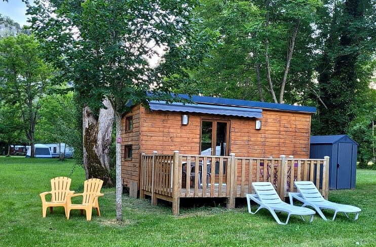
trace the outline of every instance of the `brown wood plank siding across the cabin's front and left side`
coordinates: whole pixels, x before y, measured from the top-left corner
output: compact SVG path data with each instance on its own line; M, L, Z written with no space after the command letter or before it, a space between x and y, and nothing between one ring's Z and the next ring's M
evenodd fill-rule
M125 120L133 115L133 130L125 131ZM311 114L262 110L261 129L255 129L254 118L188 113L189 124L181 125L178 112L148 111L136 106L122 119L122 176L123 184L139 182L140 153L198 155L202 119L230 121L229 153L237 157L308 158L310 147ZM124 146L133 145L131 161L124 160ZM239 164L241 167L241 163ZM238 169L241 171L241 169ZM242 174L239 174L239 176ZM244 174L248 175L248 174Z

